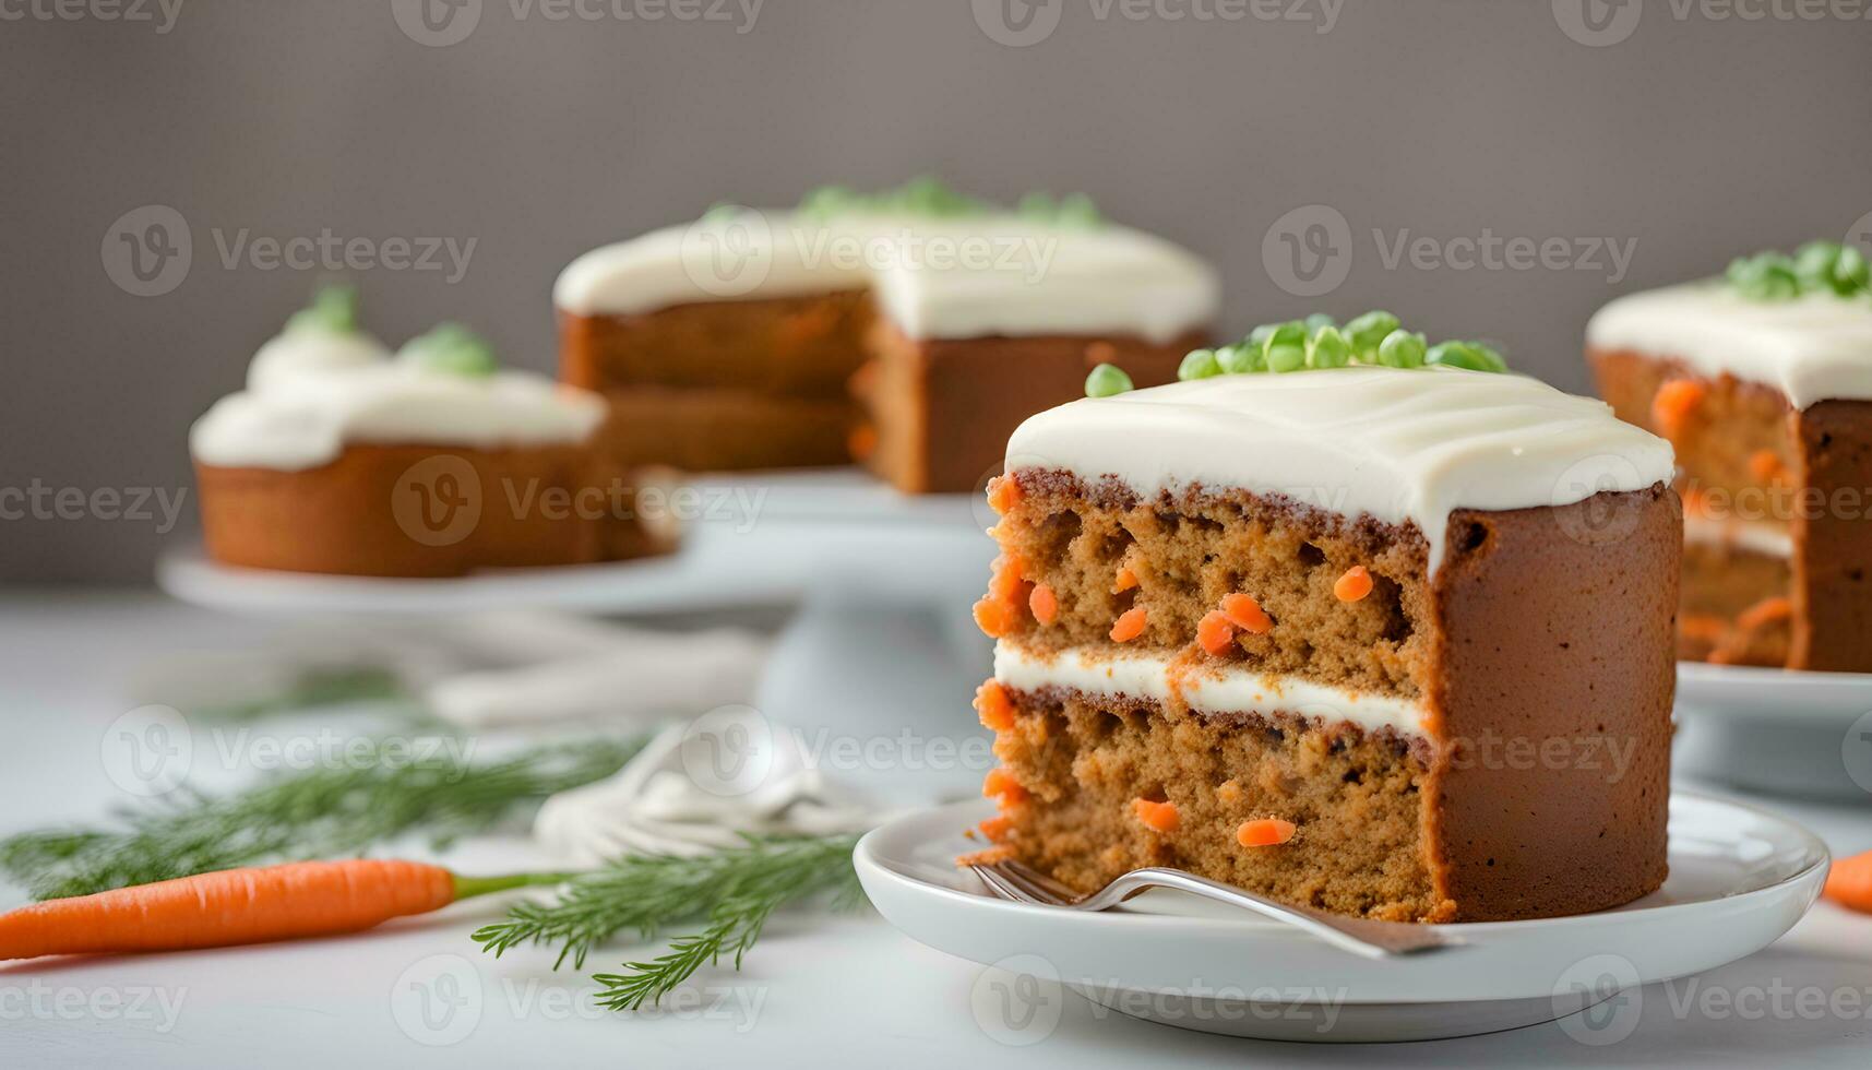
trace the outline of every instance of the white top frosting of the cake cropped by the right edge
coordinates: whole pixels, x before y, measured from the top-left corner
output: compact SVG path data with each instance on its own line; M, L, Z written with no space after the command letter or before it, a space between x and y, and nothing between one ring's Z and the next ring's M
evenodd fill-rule
M1872 300L1865 296L1752 302L1724 283L1689 283L1608 304L1586 324L1586 343L1763 382L1795 409L1829 397L1872 399Z

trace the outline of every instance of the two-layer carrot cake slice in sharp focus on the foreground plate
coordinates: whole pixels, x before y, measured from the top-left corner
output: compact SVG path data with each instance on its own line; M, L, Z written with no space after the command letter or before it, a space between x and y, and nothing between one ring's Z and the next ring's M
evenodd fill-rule
M1479 922L1664 879L1670 444L1387 313L1024 422L977 697L988 856Z

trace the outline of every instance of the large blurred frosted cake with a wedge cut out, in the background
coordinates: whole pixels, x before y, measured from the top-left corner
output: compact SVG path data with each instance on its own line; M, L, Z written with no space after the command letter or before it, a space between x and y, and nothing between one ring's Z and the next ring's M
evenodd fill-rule
M921 180L711 212L573 260L562 377L603 392L623 463L839 465L973 491L1015 425L1121 364L1168 382L1213 272L1084 197L1002 210Z

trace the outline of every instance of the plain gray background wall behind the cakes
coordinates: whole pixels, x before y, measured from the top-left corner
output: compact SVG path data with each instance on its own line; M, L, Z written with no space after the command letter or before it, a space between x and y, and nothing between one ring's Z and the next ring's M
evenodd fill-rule
M1865 15L1853 0L1818 19L1797 6L1812 0L1739 0L1769 13L1752 21L1718 17L1728 0L1348 0L1329 32L1320 0L1271 4L1297 19L1232 0L1144 17L1104 0L766 0L751 24L734 6L728 22L648 21L588 0L597 19L552 21L543 0L466 0L442 36L479 19L451 45L401 30L402 0L182 0L167 32L155 0L122 0L154 22L99 17L109 0L75 21L24 2L0 4L26 13L0 21L0 487L189 485L189 422L316 275L225 264L217 240L241 229L474 240L459 281L363 272L371 324L401 341L461 317L550 369L548 290L578 251L721 199L930 171L1005 199L1086 189L1192 245L1224 272L1230 330L1383 305L1584 388L1580 328L1608 296L1844 236L1872 212L1872 21L1846 17ZM1610 28L1580 32L1580 4ZM1003 43L1002 26L1054 19L1039 43ZM1282 290L1262 257L1307 204L1350 230L1348 274L1320 298ZM105 270L140 206L176 210L193 238L161 296ZM1617 281L1604 257L1393 268L1372 238L1484 227L1636 242L1634 259ZM146 581L155 527L0 521L0 579Z

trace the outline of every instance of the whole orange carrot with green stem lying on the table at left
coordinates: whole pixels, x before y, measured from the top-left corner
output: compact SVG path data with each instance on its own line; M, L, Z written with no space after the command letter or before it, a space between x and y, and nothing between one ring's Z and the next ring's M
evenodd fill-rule
M0 959L170 952L356 933L468 896L563 879L563 873L472 879L389 858L221 869L47 899L0 914Z

